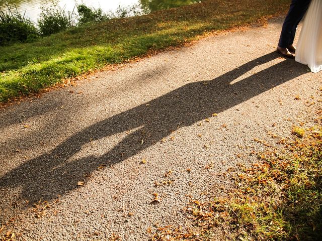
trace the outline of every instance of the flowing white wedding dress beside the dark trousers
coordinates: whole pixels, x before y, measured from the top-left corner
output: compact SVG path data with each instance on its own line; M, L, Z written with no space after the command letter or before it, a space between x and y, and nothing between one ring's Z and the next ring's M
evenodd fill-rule
M312 72L322 70L322 0L312 0L297 42L295 60Z

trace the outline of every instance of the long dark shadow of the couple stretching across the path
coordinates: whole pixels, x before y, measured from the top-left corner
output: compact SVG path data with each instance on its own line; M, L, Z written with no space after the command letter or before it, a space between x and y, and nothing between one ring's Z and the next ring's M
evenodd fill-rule
M293 60L270 66L236 83L236 78L254 67L278 58L264 55L216 79L186 84L148 103L112 116L71 136L52 152L31 159L0 179L0 190L21 188L22 200L51 200L77 186L85 174L99 164L119 163L169 136L178 127L194 123L261 94L274 86L306 73L306 67ZM272 103L273 104L273 103ZM90 141L136 129L104 155L70 161ZM141 140L144 144L141 145ZM63 175L62 175L63 174Z

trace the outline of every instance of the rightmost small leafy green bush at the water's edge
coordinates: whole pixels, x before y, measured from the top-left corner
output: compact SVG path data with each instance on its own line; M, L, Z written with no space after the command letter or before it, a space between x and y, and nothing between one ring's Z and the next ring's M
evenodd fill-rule
M109 20L109 17L102 13L102 9L95 10L84 4L77 6L77 12L79 15L78 23L81 25L89 22L99 23Z

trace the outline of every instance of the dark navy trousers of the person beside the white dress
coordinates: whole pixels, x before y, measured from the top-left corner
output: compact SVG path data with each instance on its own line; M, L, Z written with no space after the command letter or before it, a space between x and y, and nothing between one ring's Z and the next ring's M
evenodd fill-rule
M305 15L311 0L292 0L285 18L278 46L287 48L294 42L297 25Z

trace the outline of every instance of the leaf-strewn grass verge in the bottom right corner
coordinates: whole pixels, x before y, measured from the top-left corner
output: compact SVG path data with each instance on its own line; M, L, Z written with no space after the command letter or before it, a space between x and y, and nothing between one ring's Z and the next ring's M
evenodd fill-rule
M235 173L226 197L192 200L183 209L191 225L158 227L150 240L321 240L321 121L319 110L316 126L294 127L294 140L278 141L282 151L258 153Z

